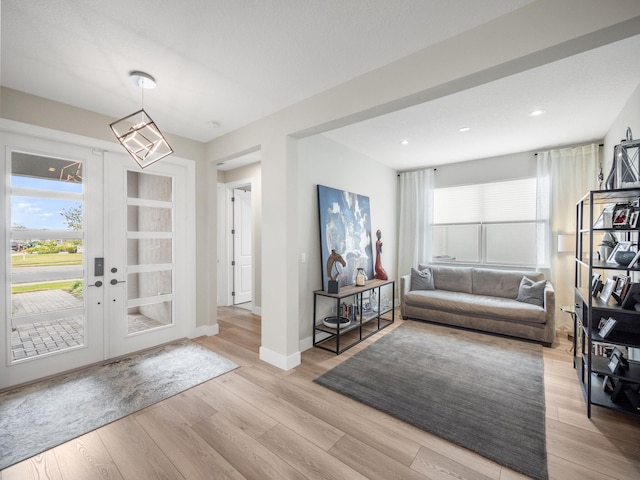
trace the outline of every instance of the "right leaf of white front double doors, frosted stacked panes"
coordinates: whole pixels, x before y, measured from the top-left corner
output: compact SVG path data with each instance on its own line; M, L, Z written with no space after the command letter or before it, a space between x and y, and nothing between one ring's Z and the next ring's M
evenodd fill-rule
M141 170L127 155L108 153L105 166L107 355L113 358L187 336L192 225L186 165L164 159Z

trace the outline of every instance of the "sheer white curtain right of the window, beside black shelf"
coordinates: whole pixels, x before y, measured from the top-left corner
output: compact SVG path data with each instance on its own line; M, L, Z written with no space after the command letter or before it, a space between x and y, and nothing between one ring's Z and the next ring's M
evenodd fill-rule
M573 330L571 317L560 307L574 304L574 256L558 252L557 238L576 234L576 203L597 188L599 150L591 144L538 153L538 266L551 268L556 325L563 332Z

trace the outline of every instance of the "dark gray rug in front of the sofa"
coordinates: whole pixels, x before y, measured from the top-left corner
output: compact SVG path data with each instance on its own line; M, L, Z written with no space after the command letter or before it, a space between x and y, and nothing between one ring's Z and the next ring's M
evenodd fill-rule
M548 478L540 345L406 322L315 382Z

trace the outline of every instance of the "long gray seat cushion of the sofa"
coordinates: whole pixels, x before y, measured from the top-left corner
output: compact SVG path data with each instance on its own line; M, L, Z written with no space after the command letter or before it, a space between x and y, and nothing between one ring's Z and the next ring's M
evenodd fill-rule
M513 298L436 289L411 291L406 294L405 302L408 306L433 312L434 319L437 318L437 312L441 311L518 323L543 324L546 321L545 310L542 307L518 302Z

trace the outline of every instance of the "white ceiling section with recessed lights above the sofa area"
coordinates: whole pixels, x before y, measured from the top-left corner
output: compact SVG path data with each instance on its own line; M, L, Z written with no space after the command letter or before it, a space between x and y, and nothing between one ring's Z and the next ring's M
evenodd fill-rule
M325 135L397 170L581 144L604 138L638 84L640 35Z

